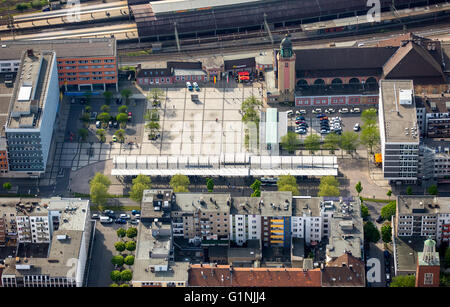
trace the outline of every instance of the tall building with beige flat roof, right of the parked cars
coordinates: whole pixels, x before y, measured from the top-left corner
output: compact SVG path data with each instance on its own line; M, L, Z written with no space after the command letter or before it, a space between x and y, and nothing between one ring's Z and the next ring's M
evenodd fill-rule
M383 175L390 183L415 183L419 130L411 80L381 80L379 127Z

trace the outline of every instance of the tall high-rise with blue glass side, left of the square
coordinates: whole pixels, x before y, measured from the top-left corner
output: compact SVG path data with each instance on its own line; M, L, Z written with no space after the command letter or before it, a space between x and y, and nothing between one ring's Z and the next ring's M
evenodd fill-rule
M55 53L28 49L22 54L5 125L9 175L45 172L58 108Z

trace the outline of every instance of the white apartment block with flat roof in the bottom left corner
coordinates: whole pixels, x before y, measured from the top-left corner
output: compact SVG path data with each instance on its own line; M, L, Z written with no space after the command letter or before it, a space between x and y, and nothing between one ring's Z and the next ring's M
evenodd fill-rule
M40 208L40 210L37 210ZM45 210L44 210L45 209ZM25 209L28 211L28 208ZM81 287L91 240L89 201L53 197L42 199L34 210L47 212L50 244L32 241L19 243L17 257L5 260L4 287ZM37 217L43 218L44 215ZM19 221L19 217L17 219ZM32 216L29 217L32 221ZM39 223L35 219L35 223ZM19 222L17 222L18 227ZM31 223L30 223L31 224ZM43 224L41 224L43 225ZM39 225L35 227L38 230ZM31 234L33 234L33 227ZM32 237L32 236L31 236ZM29 241L24 241L29 243ZM40 250L33 256L32 250ZM31 248L31 249L30 249ZM45 250L41 250L45 248ZM48 250L47 250L48 249ZM31 253L31 254L30 254Z

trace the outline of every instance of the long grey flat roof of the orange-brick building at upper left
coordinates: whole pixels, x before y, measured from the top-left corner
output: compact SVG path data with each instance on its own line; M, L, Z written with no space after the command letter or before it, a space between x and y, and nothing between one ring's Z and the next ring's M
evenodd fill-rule
M57 58L114 57L116 40L114 38L56 39L42 41L2 42L0 60L19 60L27 49L36 51L53 50Z

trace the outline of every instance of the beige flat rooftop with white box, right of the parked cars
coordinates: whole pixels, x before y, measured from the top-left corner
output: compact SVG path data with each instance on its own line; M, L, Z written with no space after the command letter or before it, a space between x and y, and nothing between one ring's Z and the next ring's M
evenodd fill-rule
M419 142L412 80L381 80L386 143Z

